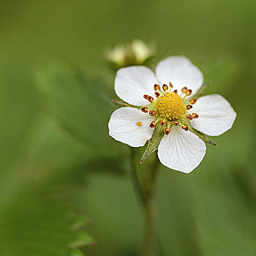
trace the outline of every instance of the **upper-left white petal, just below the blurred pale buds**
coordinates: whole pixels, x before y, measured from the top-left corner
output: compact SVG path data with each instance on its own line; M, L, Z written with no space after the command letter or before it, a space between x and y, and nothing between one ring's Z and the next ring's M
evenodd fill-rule
M120 99L135 106L149 104L144 94L154 97L154 84L158 83L154 72L148 67L124 67L116 73L115 91Z

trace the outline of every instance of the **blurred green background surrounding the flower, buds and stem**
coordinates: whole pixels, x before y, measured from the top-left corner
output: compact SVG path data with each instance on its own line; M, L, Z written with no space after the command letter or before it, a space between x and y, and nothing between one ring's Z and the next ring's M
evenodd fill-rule
M103 58L134 38L155 42L157 60L192 59L213 82L206 93L238 113L191 174L160 167L162 255L256 255L255 8L0 1L0 255L140 255L129 148L108 138L117 97Z

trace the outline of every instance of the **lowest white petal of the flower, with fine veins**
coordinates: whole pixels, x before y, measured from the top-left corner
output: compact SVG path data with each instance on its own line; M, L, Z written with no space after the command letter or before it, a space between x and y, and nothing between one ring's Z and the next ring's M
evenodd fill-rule
M182 173L190 173L194 170L205 154L206 144L203 140L181 127L173 127L170 135L162 138L158 148L160 162Z

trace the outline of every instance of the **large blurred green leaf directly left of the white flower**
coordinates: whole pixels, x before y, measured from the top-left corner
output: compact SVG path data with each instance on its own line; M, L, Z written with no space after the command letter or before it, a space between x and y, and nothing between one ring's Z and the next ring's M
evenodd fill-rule
M64 64L41 69L37 72L37 80L48 99L50 111L62 127L75 138L94 146L95 151L115 152L116 144L108 135L113 105L105 94L102 80Z

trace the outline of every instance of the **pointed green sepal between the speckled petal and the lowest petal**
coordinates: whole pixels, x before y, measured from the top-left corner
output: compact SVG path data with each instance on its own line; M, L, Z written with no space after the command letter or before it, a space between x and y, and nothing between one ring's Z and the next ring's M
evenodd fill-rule
M165 128L161 125L157 125L157 127L154 129L152 138L148 140L148 146L146 148L146 151L144 152L143 156L140 159L140 164L143 163L143 161L151 155L154 151L157 150L160 141L165 135Z

